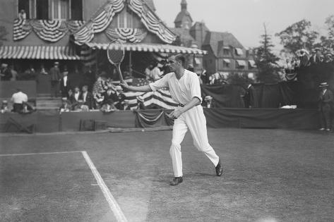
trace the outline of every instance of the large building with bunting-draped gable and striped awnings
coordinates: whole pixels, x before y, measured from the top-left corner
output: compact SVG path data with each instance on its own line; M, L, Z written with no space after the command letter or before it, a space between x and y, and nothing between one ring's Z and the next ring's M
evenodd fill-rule
M8 32L0 63L21 72L48 69L54 61L69 73L83 73L84 66L112 72L106 49L114 39L124 42L122 70L136 73L161 54L205 53L173 45L176 35L155 13L153 0L2 0L0 26Z

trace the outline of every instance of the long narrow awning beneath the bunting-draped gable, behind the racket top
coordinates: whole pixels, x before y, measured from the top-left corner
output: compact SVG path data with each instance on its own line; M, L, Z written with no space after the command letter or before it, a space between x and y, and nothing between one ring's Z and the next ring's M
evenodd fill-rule
M107 49L107 43L86 43L92 49ZM183 53L183 54L207 54L207 51L187 47L178 47L171 44L123 44L126 51L155 51L164 53ZM113 49L119 49L118 44L112 44Z

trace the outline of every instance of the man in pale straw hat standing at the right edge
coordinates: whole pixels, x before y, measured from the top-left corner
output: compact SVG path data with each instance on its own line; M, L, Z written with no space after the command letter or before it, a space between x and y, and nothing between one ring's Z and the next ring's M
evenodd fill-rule
M333 111L333 92L328 89L327 82L321 82L319 85L321 87L321 92L318 98L318 111L320 113L320 130L330 131L331 128L331 119L330 115Z

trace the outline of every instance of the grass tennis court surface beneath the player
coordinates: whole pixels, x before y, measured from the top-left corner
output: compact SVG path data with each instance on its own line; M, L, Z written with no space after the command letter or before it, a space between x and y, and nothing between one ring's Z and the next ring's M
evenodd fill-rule
M0 221L117 221L81 151L127 221L333 220L333 133L209 128L221 178L188 134L176 187L171 136L1 135Z

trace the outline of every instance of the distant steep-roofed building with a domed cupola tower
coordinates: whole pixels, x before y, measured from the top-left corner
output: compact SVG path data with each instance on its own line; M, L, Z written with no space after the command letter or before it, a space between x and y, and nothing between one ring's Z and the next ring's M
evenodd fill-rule
M213 32L203 22L193 23L186 0L181 0L181 11L172 30L181 45L208 51L208 54L196 55L193 59L197 73L205 69L209 74L220 73L225 78L229 74L244 73L253 78L258 71L251 51L246 50L232 33Z

